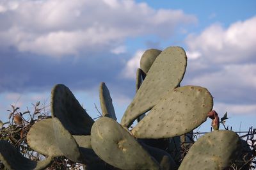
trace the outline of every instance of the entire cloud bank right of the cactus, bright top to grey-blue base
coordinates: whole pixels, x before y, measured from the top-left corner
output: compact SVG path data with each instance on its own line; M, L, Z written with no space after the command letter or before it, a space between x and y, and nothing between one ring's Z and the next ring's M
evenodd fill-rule
M216 109L256 114L256 17L228 26L212 24L186 38L189 68L186 83L207 87Z

